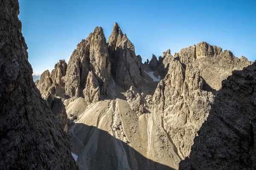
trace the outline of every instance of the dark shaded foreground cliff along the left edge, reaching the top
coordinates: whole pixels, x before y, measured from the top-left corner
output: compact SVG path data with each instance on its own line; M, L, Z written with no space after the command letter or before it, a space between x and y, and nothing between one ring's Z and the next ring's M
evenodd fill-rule
M21 34L17 0L0 3L0 169L70 169L67 133L41 98Z

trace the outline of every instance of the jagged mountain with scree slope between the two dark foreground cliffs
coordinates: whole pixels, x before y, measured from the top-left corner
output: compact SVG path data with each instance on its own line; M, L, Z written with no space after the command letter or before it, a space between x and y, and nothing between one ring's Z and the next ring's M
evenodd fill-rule
M102 28L96 27L77 45L65 74L55 76L64 93L50 88L56 78L49 71L42 75L43 85L37 85L66 106L71 148L80 169L178 169L221 81L250 64L206 42L174 56L170 50L158 59L153 54L142 64L115 23L108 43Z

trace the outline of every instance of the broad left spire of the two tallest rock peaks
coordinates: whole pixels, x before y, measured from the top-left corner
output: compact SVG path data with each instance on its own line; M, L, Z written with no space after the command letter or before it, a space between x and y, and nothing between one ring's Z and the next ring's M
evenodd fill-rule
M67 98L83 96L89 71L93 74L91 77L95 79L93 81L98 82L101 94L108 94L111 65L108 60L105 35L101 27L96 27L86 40L82 40L70 57L65 76Z

